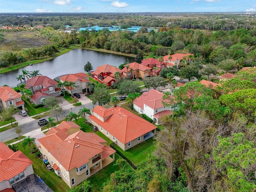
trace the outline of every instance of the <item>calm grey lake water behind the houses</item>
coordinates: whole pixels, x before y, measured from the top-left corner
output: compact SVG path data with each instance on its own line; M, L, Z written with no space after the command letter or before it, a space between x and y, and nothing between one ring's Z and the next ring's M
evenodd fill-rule
M134 62L133 57L86 49L73 49L52 60L0 74L0 86L6 84L10 87L16 87L17 84L20 83L20 81L18 81L16 78L22 74L22 70L39 70L40 74L53 79L64 74L84 72L84 65L88 61L91 62L93 70L96 70L96 67L104 64L110 64L112 66L118 67L120 64L125 63L127 59L129 62Z

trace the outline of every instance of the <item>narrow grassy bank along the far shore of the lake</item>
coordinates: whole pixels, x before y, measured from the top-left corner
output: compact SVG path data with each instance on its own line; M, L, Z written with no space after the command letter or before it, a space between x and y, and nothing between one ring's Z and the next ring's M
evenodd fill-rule
M54 58L56 58L58 56L61 56L61 55L65 54L65 53L73 50L73 49L87 49L87 50L92 50L92 51L98 51L98 52L105 52L105 53L111 53L111 54L116 54L116 55L129 56L129 57L134 57L134 58L136 57L136 55L134 55L134 54L126 54L126 53L115 52L115 51L111 51L111 50L97 49L97 48L82 48L82 47L72 46L71 48L64 49L64 50L62 50L60 52L57 52L53 56L48 57L48 58L27 61L27 62L16 64L14 66L10 66L10 67L7 67L7 68L2 68L2 69L0 69L0 74L4 74L4 73L7 73L7 72L10 72L10 71L13 71L13 70L24 68L24 67L28 66L30 63L34 65L34 64L38 64L38 63L42 63L42 62L54 59Z

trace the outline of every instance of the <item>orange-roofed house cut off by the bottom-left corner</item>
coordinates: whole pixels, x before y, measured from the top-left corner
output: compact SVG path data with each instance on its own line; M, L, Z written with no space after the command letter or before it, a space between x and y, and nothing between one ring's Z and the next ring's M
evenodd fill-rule
M18 183L34 179L32 164L20 150L14 152L6 144L0 143L0 191L18 191Z

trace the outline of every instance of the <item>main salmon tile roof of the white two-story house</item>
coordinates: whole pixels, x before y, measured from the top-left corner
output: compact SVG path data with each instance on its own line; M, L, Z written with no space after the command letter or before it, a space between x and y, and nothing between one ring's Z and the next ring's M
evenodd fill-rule
M163 96L163 93L151 89L148 92L144 92L138 98L134 99L133 103L142 109L144 109L144 104L152 109L158 109L164 106L164 104L162 104L162 101L168 102L168 100L162 99Z

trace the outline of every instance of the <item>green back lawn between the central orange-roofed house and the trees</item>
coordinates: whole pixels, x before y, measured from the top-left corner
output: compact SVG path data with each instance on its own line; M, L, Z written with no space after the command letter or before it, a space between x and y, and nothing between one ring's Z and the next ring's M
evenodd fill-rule
M154 145L154 139L151 137L146 141L123 151L120 147L115 146L124 156L126 156L135 166L142 164L148 155L152 154L156 150Z

